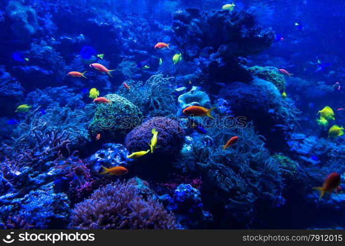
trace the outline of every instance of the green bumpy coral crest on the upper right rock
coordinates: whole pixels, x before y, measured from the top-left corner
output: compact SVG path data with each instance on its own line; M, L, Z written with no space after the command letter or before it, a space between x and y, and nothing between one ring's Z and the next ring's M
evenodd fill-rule
M278 68L273 66L252 66L248 68L248 71L260 79L270 81L276 86L280 93L285 91L286 81L284 75L279 73Z

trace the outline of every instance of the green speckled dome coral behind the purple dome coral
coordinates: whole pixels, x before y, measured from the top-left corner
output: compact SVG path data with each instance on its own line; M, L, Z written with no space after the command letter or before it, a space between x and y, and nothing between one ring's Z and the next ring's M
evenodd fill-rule
M107 94L110 104L97 105L94 118L89 124L92 139L101 134L103 142L122 142L134 127L140 125L142 113L132 102L117 94Z

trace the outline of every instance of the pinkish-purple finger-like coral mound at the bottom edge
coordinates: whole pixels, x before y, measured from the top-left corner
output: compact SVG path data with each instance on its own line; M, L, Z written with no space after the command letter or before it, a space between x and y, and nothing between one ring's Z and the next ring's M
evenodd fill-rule
M117 181L96 190L72 210L71 229L177 229L173 214L139 189Z

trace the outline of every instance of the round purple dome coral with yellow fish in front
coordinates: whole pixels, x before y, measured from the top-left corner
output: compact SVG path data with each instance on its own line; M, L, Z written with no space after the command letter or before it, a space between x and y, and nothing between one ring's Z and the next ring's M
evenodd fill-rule
M157 146L159 146L153 154L169 156L181 150L185 132L179 123L166 117L154 117L134 128L126 137L126 149L130 152L148 150L147 143L151 141L152 128L158 131Z

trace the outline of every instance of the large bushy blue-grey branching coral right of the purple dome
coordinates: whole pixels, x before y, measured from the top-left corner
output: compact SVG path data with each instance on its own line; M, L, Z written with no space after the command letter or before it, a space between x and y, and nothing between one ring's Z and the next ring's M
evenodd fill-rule
M214 127L208 129L208 135L214 144L205 146L203 138L196 138L192 152L179 160L185 166L177 163L176 168L201 175L203 191L207 192L204 194L212 197L208 206L212 207L213 203L221 206L217 211L207 208L214 219L226 216L234 223L241 221L242 226L253 226L259 206L273 206L281 192L279 164L264 147L252 123L245 128ZM220 146L233 136L239 136L239 141L223 151Z

